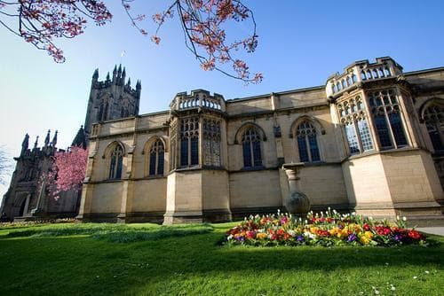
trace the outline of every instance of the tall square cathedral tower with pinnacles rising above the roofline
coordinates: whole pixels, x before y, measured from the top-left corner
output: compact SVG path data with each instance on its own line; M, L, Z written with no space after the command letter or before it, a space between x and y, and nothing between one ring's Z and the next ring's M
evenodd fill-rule
M92 74L90 98L84 122L86 141L91 135L92 123L110 121L139 114L141 82L136 89L131 88L131 78L125 82L126 71L122 65L114 67L112 78L107 74L105 81L99 82L99 69Z

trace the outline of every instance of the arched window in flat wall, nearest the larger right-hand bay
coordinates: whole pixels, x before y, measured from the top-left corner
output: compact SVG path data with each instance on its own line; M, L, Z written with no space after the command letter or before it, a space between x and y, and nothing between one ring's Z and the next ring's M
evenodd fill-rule
M303 121L296 129L297 150L301 162L320 161L318 140L316 139L316 129L309 121Z

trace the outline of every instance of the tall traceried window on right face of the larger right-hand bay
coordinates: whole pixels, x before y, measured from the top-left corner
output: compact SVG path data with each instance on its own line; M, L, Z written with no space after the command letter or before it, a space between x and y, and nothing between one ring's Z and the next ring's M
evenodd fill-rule
M407 137L400 117L400 105L394 91L370 92L368 97L381 148L407 146Z

